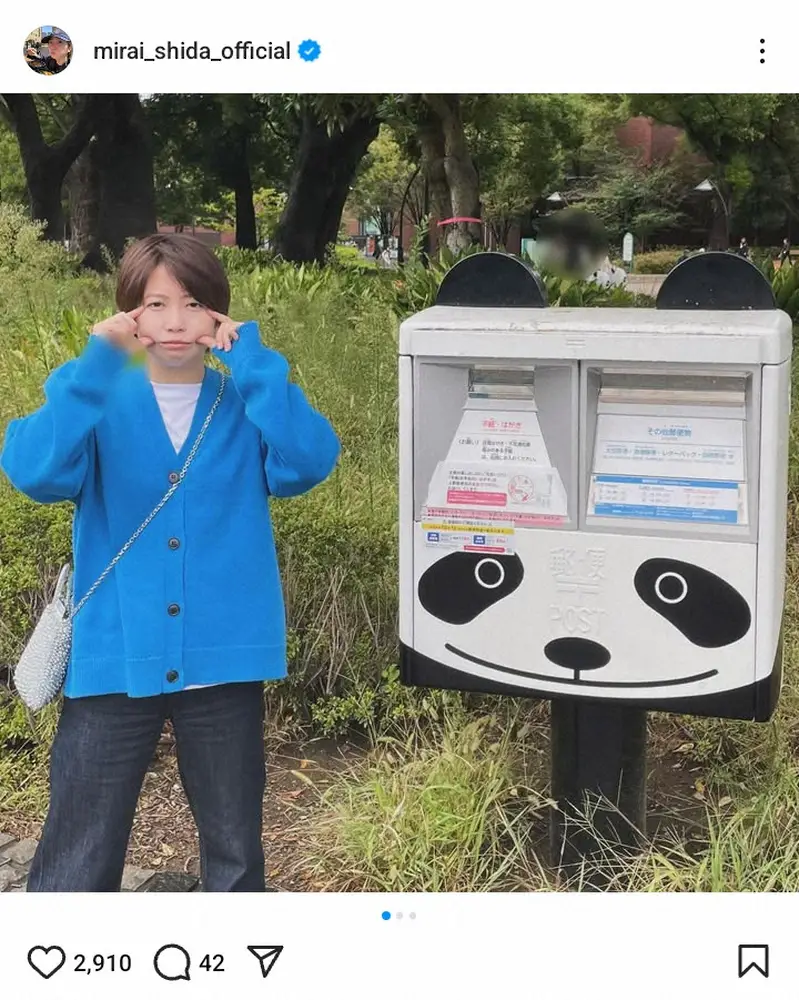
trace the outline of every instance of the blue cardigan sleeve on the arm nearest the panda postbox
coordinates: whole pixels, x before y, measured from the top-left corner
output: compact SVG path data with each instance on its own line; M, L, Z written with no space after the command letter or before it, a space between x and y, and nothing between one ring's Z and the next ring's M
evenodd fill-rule
M277 497L306 493L330 475L340 445L326 417L289 381L282 354L261 342L258 324L243 323L230 351L214 348L229 368L247 417L261 433L269 492Z

